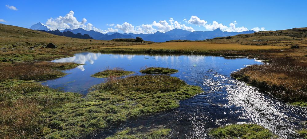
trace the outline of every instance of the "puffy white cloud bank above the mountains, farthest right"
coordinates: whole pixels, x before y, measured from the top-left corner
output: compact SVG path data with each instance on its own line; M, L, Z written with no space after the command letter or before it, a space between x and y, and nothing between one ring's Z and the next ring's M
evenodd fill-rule
M186 21L186 20L184 20ZM201 20L197 16L191 16L190 20L186 21L188 24L195 24L198 26L203 26L207 30L215 30L217 28L220 28L221 31L227 31L227 32L242 32L242 31L248 31L248 29L244 26L242 27L236 27L238 24L237 21L234 21L229 24L229 26L223 25L222 23L218 23L216 21L213 21L212 24L207 24L207 21ZM264 27L262 27L264 29ZM261 28L261 29L262 29ZM257 27L253 28L254 30L257 30ZM252 30L253 30L252 29ZM258 28L258 30L261 30Z

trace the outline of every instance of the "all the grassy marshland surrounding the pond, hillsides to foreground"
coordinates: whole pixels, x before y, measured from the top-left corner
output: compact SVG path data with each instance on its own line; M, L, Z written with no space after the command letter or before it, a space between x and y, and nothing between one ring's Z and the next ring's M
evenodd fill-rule
M63 93L33 83L33 80L64 76L65 73L59 69L78 65L43 60L68 57L81 51L193 53L258 58L269 64L248 66L232 76L269 90L274 96L290 104L304 107L307 101L306 31L306 28L295 28L203 42L136 43L68 38L0 24L0 137L80 137L94 130L114 126L128 118L178 107L179 100L201 92L199 87L189 86L182 80L167 75L110 78L84 98L78 93ZM58 48L41 47L50 42ZM294 45L300 48L291 49ZM31 46L34 50L29 49ZM132 81L140 84L132 86ZM161 81L168 84L161 84ZM243 127L244 130L246 127ZM252 127L248 128L246 130L251 130ZM267 130L258 128L267 133L262 135L271 137ZM124 130L114 137L126 136L131 130L133 129ZM146 135L135 132L136 135L127 136L162 137L168 132L169 129L158 129L148 131ZM298 131L298 134L306 138L306 130Z

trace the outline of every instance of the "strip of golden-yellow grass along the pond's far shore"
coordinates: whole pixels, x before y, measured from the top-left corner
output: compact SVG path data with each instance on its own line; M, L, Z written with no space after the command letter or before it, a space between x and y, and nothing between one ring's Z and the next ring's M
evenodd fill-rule
M191 51L220 51L220 50L268 50L287 49L288 46L252 46L240 44L218 44L211 42L163 42L148 45L116 46L112 48L132 48L132 49L175 49Z

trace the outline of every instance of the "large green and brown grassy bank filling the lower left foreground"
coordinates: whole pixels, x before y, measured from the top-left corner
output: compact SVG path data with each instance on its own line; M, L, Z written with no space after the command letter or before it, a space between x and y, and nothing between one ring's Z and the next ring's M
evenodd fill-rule
M1 89L0 137L82 137L127 119L176 108L179 100L201 92L200 87L167 75L110 78L84 98L37 83L21 84ZM166 130L146 136L158 133L164 135Z

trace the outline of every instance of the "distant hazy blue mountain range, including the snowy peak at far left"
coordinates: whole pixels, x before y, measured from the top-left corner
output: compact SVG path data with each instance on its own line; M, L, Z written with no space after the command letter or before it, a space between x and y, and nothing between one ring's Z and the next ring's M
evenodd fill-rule
M50 29L46 27L44 24L37 23L30 27L30 29L34 30L45 30L49 31ZM238 34L250 34L254 33L255 31L242 31L242 32L226 32L221 31L220 28L217 28L213 31L186 31L183 29L173 29L171 31L163 32L155 32L153 34L134 34L134 33L118 33L118 32L108 32L106 34L102 34L98 31L93 30L85 30L83 28L77 29L65 29L63 32L70 31L73 34L80 33L81 35L89 35L93 39L97 40L112 40L114 38L136 38L141 37L145 41L152 41L152 42L166 42L170 40L205 40L211 39L216 37L225 37L225 36L234 36ZM57 31L58 32L58 31Z

